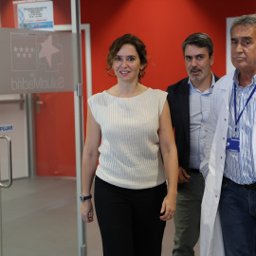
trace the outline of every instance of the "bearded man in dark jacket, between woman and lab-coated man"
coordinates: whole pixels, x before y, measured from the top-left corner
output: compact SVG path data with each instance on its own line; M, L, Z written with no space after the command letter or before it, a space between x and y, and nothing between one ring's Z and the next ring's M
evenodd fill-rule
M205 182L199 173L204 158L205 124L214 83L213 44L205 33L194 33L182 44L189 77L167 88L179 161L179 188L174 214L174 256L193 256L200 233Z

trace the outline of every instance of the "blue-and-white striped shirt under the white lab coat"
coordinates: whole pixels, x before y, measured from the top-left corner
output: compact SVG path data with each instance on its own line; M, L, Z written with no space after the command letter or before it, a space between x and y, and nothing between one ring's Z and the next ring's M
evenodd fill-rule
M247 99L256 86L256 75L252 82L246 87L239 86L239 70L234 73L234 84L236 86L236 111L237 117L240 115ZM226 151L226 162L224 175L238 184L251 184L256 182L256 171L254 166L252 143L253 124L256 121L256 92L248 101L246 108L237 125L237 137L240 141L240 153ZM234 87L229 102L229 129L228 138L234 137L235 118L234 118Z

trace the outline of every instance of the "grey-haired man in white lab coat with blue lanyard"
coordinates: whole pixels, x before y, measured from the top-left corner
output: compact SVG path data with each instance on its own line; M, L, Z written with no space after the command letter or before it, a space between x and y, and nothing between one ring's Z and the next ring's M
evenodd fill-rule
M230 35L236 70L215 84L200 166L201 256L256 256L256 14Z

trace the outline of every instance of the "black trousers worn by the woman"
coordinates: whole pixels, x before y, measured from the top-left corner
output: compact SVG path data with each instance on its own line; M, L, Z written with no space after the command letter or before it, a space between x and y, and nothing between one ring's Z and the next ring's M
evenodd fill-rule
M159 219L167 186L123 189L95 179L95 208L104 256L160 256L166 223Z

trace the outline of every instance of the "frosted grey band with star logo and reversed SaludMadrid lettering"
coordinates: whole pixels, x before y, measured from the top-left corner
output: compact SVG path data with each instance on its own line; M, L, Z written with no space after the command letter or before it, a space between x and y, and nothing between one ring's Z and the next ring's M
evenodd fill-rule
M0 28L0 44L0 94L76 90L76 34Z

